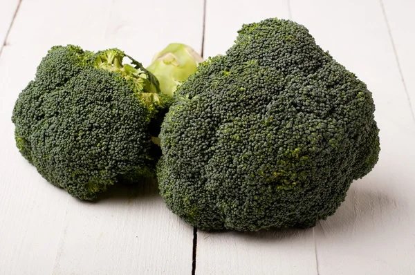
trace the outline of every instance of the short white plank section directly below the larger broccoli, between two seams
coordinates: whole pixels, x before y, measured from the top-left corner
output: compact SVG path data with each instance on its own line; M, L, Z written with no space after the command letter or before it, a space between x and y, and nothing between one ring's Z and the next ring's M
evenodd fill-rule
M316 274L313 229L198 231L196 274Z

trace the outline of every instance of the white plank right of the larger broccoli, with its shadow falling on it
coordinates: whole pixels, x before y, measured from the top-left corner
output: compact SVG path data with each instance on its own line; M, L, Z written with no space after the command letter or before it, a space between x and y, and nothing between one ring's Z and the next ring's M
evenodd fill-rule
M374 171L353 182L338 212L315 229L319 274L414 274L415 124L380 3L291 0L291 10L367 83L380 128Z

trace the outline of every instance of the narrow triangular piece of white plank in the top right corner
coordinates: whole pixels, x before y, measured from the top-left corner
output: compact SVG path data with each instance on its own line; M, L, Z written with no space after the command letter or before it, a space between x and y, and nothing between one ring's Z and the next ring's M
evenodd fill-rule
M382 0L385 19L389 26L389 36L394 44L396 61L400 75L405 84L405 90L412 106L412 116L415 120L415 1Z

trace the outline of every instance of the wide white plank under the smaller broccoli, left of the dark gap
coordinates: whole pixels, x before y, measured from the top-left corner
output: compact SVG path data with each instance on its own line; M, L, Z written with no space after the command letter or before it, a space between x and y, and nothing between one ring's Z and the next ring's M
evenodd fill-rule
M154 185L80 202L21 157L10 117L50 46L117 46L148 65L169 42L200 50L202 19L199 0L21 3L0 58L0 274L190 274L193 229Z

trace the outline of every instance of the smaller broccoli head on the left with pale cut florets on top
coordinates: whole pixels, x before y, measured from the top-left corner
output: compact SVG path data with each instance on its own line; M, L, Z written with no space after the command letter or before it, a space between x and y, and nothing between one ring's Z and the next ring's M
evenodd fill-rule
M137 61L122 64L126 56L53 47L17 99L12 122L21 154L77 198L92 200L120 179L154 173L148 125L165 96Z

